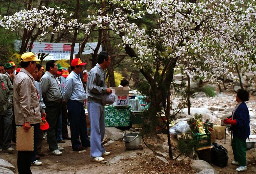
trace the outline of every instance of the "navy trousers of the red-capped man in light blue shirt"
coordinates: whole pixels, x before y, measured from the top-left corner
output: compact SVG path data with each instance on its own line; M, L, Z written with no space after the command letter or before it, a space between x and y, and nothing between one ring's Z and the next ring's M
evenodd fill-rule
M76 149L79 146L90 147L83 103L75 100L69 100L68 111L70 113L70 133L72 148ZM79 136L81 142L79 140Z

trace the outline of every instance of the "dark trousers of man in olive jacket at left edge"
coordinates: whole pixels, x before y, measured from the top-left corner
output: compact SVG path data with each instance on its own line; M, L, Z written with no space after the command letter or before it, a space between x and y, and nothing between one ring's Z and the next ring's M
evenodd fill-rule
M0 149L11 147L12 115L12 109L8 109L5 115L0 115Z

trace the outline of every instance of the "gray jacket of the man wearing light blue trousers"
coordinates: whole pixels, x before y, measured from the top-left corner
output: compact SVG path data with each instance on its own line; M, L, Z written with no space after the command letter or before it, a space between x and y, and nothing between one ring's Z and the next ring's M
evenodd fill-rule
M86 84L87 102L102 104L104 93L107 93L106 73L99 64L96 64L88 73Z

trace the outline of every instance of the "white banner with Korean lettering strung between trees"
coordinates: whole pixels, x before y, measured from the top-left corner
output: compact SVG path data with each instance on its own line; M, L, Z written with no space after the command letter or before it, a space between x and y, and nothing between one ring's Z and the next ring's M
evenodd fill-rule
M27 44L29 48L30 43ZM96 48L97 42L89 42L84 47L82 54L91 54ZM15 40L15 48L18 51L21 47L21 40ZM70 59L71 43L51 43L51 42L34 42L31 51L35 54L46 53L49 54L44 60L60 60ZM74 54L79 51L79 43L75 43ZM102 51L100 46L99 52ZM74 56L75 57L75 56Z

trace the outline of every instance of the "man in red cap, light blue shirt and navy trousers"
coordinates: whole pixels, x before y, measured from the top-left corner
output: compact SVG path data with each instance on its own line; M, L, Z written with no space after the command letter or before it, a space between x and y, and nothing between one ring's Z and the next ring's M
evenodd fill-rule
M86 94L83 88L82 80L79 74L82 72L82 63L80 58L73 59L71 62L71 73L66 78L65 100L68 104L70 114L70 133L72 149L80 151L90 147L90 141L87 135L86 117L83 107ZM80 136L80 140L79 140Z

